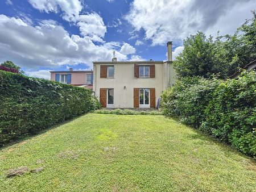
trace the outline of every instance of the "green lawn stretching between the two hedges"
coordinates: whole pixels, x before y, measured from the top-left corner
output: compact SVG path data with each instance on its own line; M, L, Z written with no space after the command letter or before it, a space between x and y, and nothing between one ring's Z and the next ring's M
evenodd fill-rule
M9 169L44 167L6 177ZM164 116L87 114L0 151L1 191L255 191L256 164Z

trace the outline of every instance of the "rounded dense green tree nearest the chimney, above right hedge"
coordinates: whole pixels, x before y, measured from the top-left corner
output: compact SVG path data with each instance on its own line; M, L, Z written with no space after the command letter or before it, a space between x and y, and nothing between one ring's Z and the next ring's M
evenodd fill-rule
M218 49L213 37L207 38L203 32L197 32L184 40L184 49L174 61L177 77L201 76L209 78L212 74L220 73L216 63Z

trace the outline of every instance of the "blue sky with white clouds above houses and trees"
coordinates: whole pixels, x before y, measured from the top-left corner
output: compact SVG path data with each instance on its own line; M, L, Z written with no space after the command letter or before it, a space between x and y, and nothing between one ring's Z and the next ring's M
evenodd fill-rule
M183 40L203 31L234 31L252 17L255 0L0 0L0 63L28 76L90 70L93 61L174 59Z

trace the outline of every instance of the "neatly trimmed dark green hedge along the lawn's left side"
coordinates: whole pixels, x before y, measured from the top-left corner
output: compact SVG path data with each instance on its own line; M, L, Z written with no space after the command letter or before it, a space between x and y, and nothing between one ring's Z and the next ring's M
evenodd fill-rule
M0 145L100 108L92 92L0 70Z

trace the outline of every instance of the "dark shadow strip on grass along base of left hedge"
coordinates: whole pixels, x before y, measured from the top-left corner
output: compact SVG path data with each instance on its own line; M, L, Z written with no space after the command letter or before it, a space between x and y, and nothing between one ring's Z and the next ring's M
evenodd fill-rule
M31 133L31 134L24 135L24 137L22 137L22 138L18 138L18 139L15 139L15 140L13 140L13 141L10 141L10 143L6 143L5 145L3 145L3 146L0 147L0 152L1 152L3 149L5 149L5 148L11 147L12 145L15 145L15 144L18 144L18 143L26 142L26 140L28 140L28 139L32 139L32 138L34 138L34 137L36 137L36 136L39 136L39 135L41 135L41 134L43 134L43 133L46 133L46 132L50 131L50 130L54 130L55 128L60 127L60 126L62 126L62 125L64 125L64 124L66 124L66 123L71 123L71 122L73 122L74 120L80 118L81 116L87 115L87 114L89 114L89 113L90 113L90 112L88 112L88 113L86 113L86 114L82 114L82 115L76 116L76 117L74 117L74 118L72 118L72 119L64 120L63 122L60 122L60 123L58 123L58 124L55 124L54 126L45 128L45 129L40 130L40 131L35 132L35 133Z

